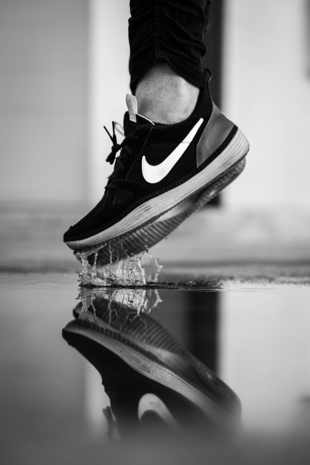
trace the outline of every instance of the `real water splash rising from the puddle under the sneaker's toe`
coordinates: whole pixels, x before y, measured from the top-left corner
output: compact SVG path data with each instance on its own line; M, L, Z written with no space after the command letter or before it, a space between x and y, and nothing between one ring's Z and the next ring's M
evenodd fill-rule
M129 255L121 240L110 243L110 263L106 266L97 266L98 248L91 251L94 254L93 265L89 264L87 258L90 251L81 252L81 286L143 286L148 282L157 282L162 266L149 253L147 236L145 240L145 252L140 256Z

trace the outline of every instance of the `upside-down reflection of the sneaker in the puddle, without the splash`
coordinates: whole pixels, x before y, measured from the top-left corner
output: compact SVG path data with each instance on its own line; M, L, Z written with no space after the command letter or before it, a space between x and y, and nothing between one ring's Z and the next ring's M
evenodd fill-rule
M130 394L138 409L144 394L154 394L179 424L184 412L187 421L194 413L217 425L239 419L240 403L234 392L148 314L137 314L117 302L112 306L97 296L87 311L82 312L79 304L74 316L76 321L65 327L63 336L99 370L110 399L124 389L123 396ZM91 347L92 359L86 346ZM118 370L113 375L117 388L105 380L105 372L111 373L113 366ZM117 417L112 404L111 399Z

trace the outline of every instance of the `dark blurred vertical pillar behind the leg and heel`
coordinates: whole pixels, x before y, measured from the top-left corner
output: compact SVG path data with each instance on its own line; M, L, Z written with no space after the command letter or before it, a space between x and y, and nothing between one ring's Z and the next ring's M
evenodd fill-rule
M221 107L221 63L222 63L222 30L223 30L223 0L213 0L209 13L209 24L205 34L207 53L202 59L203 66L209 68L212 79L209 90L215 105ZM215 197L208 205L220 206L220 195Z

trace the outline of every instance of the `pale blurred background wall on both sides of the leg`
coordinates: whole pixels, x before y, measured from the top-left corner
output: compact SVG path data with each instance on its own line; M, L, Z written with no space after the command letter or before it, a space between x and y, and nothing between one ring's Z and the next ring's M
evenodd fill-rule
M128 18L129 0L0 0L0 200L102 196ZM309 1L226 0L223 18L222 109L251 146L223 203L309 206Z

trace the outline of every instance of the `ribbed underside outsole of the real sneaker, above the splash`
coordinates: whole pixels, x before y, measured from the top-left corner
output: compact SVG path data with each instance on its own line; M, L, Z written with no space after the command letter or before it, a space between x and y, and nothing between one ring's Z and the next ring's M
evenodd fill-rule
M185 200L153 223L126 234L122 239L123 250L125 250L128 255L139 254L145 250L146 244L148 248L155 246L161 239L167 237L168 234L172 233L174 229L180 226L185 219L216 197L226 186L239 176L244 166L245 159L241 160L238 165L234 166L219 179L213 181L209 186L203 189L198 196L195 195L195 199ZM116 261L117 256L116 250L114 249L115 247L110 247L109 244L100 247L99 250L97 250L96 265L107 265L110 262L110 258L112 258L112 262ZM79 252L76 251L75 255L78 260L81 259ZM87 260L90 265L94 264L95 254L92 250L88 252Z

